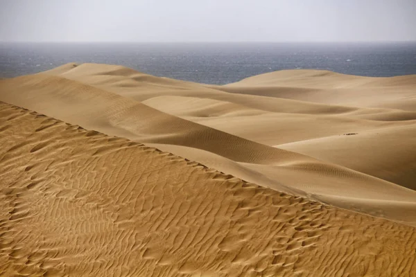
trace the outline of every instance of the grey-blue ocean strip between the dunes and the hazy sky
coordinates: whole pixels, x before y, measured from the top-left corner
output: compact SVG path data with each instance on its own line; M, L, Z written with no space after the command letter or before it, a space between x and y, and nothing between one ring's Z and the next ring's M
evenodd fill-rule
M416 42L0 43L0 78L67 62L121 64L157 76L227 84L281 69L365 76L416 74Z

